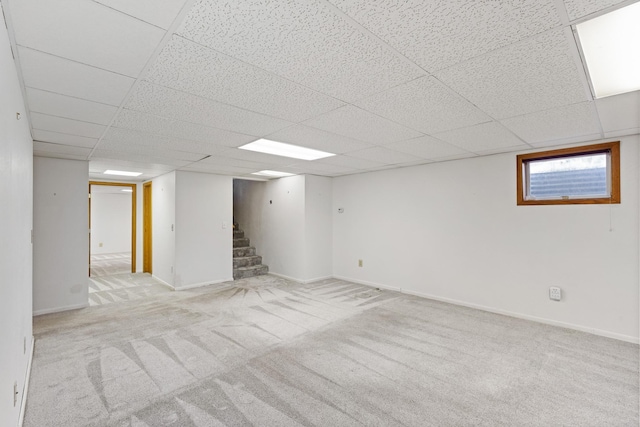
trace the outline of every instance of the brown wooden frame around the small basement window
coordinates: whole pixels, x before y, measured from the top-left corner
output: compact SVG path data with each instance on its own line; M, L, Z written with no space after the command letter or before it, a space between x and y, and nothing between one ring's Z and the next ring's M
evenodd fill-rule
M566 199L526 199L525 185L527 184L526 164L536 160L575 157L585 154L607 153L610 155L608 164L610 173L611 195L608 197L566 198ZM620 141L602 144L585 145L581 147L562 148L559 150L541 151L537 153L520 154L516 156L516 183L518 206L527 205L589 205L589 204L618 204L620 199Z

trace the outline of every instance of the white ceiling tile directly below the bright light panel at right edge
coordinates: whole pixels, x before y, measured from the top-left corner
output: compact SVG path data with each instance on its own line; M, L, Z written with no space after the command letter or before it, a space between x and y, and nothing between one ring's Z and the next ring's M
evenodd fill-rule
M640 90L596 99L605 133L640 128Z

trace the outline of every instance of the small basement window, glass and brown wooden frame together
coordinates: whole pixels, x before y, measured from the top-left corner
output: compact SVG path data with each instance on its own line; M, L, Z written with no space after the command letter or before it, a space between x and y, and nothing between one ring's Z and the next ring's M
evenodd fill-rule
M518 205L620 203L620 142L517 156Z

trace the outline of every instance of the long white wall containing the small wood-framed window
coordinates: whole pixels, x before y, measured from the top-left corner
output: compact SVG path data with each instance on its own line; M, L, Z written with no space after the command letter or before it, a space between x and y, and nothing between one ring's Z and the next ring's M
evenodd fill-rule
M334 273L637 342L639 143L611 206L516 206L515 154L336 178Z

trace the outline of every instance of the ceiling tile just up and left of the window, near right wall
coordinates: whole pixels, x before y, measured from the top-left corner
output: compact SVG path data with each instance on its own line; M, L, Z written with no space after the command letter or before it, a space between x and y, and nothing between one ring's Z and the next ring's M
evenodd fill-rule
M439 133L434 136L473 153L482 153L504 148L529 147L496 122L469 126Z

